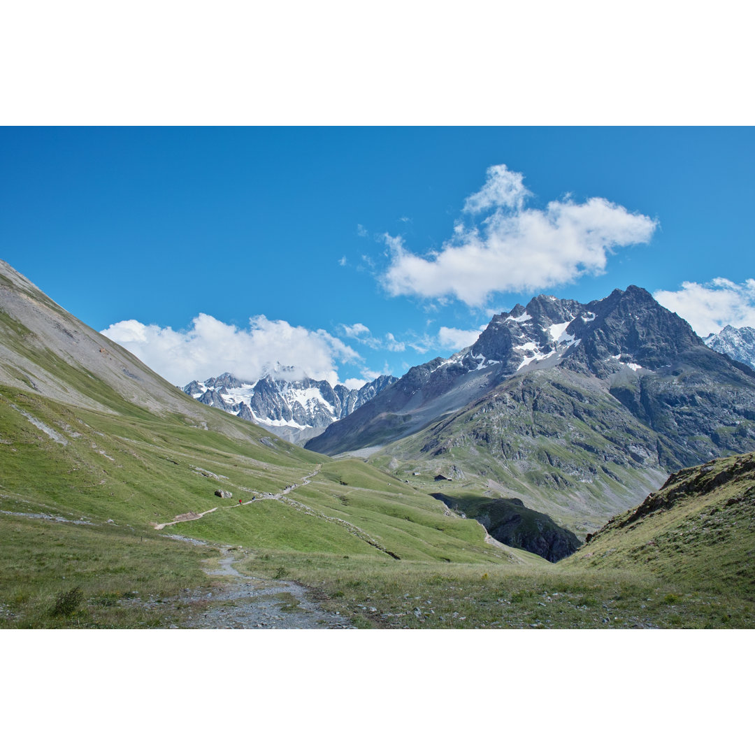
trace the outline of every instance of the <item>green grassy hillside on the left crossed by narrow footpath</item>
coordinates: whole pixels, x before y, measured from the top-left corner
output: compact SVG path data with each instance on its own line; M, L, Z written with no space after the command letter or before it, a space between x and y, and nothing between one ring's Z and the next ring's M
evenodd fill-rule
M209 422L198 426L180 414L119 408L92 411L0 387L0 626L175 621L157 618L154 606L145 618L128 596L162 599L208 584L202 559L217 548L166 535L260 557L361 556L378 567L395 556L503 558L476 522L364 462L331 461L219 410L207 409ZM242 439L205 430L215 414ZM72 587L83 608L53 617L56 596Z

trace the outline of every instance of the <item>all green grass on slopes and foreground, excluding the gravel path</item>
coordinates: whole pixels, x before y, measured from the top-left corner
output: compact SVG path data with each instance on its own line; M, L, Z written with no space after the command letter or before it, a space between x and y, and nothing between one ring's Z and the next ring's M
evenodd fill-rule
M726 529L710 507L705 526L725 538L714 543L715 574L704 568L710 552L689 559L676 551L673 538L689 537L685 530L661 538L662 568L660 557L632 556L639 541L622 550L621 538L640 537L641 522L614 532L618 519L553 565L485 544L476 522L419 485L363 461L311 454L250 424L242 423L248 440L239 441L178 416L74 412L8 388L0 396L2 627L180 626L171 597L223 580L202 571L222 544L241 549L243 573L307 584L325 608L361 627L752 626L752 547L739 543L747 526ZM216 488L233 498L217 498ZM245 505L236 505L239 497ZM723 507L726 516L732 506ZM162 530L150 524L214 507ZM653 516L649 522L660 521ZM751 515L732 519L743 521ZM653 538L658 544L657 532ZM76 587L78 599L69 596Z

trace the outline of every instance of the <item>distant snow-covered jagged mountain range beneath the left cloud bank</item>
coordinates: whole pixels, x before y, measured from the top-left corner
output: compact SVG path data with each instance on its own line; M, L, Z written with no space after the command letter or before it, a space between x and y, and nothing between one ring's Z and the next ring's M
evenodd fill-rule
M288 381L267 374L255 382L242 382L229 372L219 377L192 381L183 387L208 406L223 409L254 422L290 442L304 443L329 424L343 419L397 380L381 375L359 389L309 377Z

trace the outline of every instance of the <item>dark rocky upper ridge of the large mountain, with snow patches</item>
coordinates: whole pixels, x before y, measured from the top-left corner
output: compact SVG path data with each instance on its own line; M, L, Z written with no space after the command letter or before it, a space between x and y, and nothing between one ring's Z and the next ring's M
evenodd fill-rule
M535 370L561 366L619 385L667 370L691 350L702 361L723 364L687 322L642 288L616 289L589 304L537 296L526 307L517 304L494 316L472 346L411 368L379 399L329 427L307 448L333 454L383 445Z

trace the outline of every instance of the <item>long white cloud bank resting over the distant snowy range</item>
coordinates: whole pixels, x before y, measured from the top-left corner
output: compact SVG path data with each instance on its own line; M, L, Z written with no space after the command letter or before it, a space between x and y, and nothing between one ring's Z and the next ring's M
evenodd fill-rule
M174 385L226 371L241 380L256 381L276 365L293 365L296 371L291 377L307 374L334 385L337 363L362 361L355 350L327 331L310 331L263 315L250 318L248 328L199 314L185 331L123 320L101 332Z

